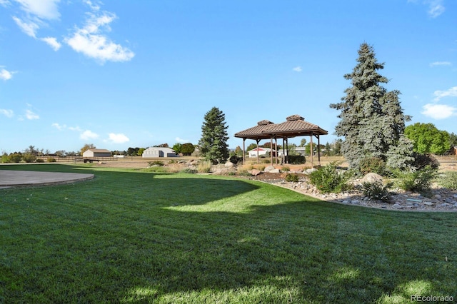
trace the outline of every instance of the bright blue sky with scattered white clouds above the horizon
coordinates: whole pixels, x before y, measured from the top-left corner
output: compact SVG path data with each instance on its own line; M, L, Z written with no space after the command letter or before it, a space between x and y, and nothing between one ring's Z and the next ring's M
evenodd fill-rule
M0 0L0 150L198 143L214 106L230 148L294 114L331 142L363 42L410 123L457 133L456 16L455 0Z

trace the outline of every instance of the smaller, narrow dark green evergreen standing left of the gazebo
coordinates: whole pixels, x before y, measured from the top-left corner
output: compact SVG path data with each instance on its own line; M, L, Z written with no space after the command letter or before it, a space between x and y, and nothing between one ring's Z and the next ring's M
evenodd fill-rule
M199 145L201 155L213 164L225 163L229 158L227 128L229 126L226 126L225 114L219 108L211 108L205 114Z

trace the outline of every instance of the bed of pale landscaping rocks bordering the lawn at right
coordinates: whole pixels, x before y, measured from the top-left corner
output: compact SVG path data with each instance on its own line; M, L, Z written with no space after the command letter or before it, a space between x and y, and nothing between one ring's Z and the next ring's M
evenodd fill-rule
M457 211L457 191L446 188L438 188L434 185L430 196L422 196L420 193L391 189L389 201L375 201L364 196L361 191L353 190L343 193L320 193L317 188L308 182L306 174L297 173L299 181L285 181L286 173L259 173L257 176L248 177L251 180L271 183L276 186L289 188L298 193L319 198L332 203L345 205L365 206L371 208L392 209L398 211Z

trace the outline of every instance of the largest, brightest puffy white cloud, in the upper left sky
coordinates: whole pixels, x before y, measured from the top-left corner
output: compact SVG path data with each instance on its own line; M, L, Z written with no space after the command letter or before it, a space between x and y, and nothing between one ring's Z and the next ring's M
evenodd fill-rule
M88 57L104 61L129 61L135 54L133 51L115 44L103 31L111 31L109 24L116 19L116 14L104 12L100 16L90 15L86 25L76 28L73 36L65 39L66 44L74 51Z

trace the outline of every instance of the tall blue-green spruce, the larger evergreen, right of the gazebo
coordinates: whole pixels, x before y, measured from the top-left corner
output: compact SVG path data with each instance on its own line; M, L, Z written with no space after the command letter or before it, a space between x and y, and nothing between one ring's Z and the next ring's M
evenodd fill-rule
M404 168L413 161L408 140L403 136L405 121L411 118L403 114L400 92L381 86L388 79L378 74L384 64L377 61L372 46L361 44L357 62L353 72L344 75L352 84L346 88L346 96L340 103L330 105L341 111L341 121L336 126L336 135L345 138L341 153L356 170L361 160L372 157Z

